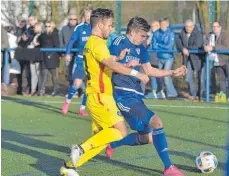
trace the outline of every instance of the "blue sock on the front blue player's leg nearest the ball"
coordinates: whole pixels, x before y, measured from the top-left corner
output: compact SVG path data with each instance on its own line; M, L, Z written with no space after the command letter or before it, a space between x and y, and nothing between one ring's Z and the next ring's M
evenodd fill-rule
M165 169L168 169L172 163L169 158L168 144L163 128L153 130L153 144L163 164L165 165Z

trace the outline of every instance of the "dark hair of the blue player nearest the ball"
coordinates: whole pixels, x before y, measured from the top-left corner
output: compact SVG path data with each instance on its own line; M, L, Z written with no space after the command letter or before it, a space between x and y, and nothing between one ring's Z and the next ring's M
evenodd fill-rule
M149 32L150 25L148 22L141 17L134 17L130 20L130 22L127 25L127 34L129 34L132 30L143 30L145 32Z

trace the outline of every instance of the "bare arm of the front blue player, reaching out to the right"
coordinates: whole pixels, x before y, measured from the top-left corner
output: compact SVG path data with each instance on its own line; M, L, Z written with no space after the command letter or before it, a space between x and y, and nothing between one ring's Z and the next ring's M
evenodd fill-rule
M165 77L165 76L172 76L172 75L183 76L187 72L185 66L181 66L176 70L162 70L162 69L153 68L149 62L142 64L142 68L148 76L153 76L153 77Z

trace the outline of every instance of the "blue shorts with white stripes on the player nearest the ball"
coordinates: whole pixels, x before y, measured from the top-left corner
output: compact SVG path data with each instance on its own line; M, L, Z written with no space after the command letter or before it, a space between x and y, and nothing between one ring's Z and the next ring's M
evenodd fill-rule
M141 98L133 96L116 97L116 104L130 128L138 131L141 134L152 132L149 126L151 117L154 112L147 108Z

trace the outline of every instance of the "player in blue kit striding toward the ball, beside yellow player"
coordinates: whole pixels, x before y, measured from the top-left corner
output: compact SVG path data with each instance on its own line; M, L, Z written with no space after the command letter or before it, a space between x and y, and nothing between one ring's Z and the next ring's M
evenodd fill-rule
M142 67L148 76L183 76L186 73L185 66L176 70L160 70L151 67L149 53L143 46L149 29L150 26L145 19L141 17L132 18L127 26L127 34L116 38L110 46L111 55L118 56L123 49L127 48L128 52L119 62L132 67L136 74ZM114 149L121 145L134 146L153 142L165 166L164 175L184 176L177 167L172 165L162 121L144 104L142 100L144 93L140 81L133 76L113 73L112 82L117 107L129 126L137 133L131 133L120 141L112 142L106 148L106 155L111 158Z

